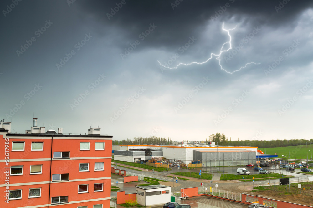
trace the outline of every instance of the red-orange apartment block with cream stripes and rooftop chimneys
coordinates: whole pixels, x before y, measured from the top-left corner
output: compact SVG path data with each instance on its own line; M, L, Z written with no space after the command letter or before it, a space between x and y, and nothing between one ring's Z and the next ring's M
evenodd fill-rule
M110 207L112 136L36 124L10 133L11 122L0 122L0 207Z

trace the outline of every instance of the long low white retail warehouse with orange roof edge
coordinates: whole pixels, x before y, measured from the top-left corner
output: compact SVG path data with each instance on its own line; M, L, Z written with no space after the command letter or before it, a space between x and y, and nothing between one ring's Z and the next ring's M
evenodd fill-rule
M215 145L120 145L114 154L115 160L128 162L165 157L186 164L199 160L203 166L233 166L256 163L258 149Z

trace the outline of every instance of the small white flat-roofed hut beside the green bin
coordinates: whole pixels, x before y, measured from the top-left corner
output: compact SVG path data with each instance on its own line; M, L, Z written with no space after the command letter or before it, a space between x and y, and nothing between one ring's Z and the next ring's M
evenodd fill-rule
M136 198L142 206L163 205L171 201L171 186L136 186Z

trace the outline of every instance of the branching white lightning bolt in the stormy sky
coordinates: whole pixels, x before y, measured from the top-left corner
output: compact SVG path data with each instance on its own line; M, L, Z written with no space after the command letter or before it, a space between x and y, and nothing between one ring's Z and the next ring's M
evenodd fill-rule
M205 63L207 63L209 60L211 60L211 59L213 58L213 56L217 56L217 57L216 57L216 60L218 60L218 64L220 65L221 70L224 70L224 71L226 71L226 72L229 73L229 74L233 74L233 73L236 72L236 71L240 71L241 69L245 68L248 64L260 64L260 63L254 63L254 62L246 63L246 65L240 67L238 70L235 70L235 71L233 71L233 72L229 72L229 71L225 70L225 69L223 68L223 66L221 65L221 59L220 59L220 58L221 58L222 53L223 53L223 52L227 52L227 51L229 51L230 49L232 49L232 43L231 43L231 41L232 41L232 36L229 34L229 31L235 29L236 27L237 27L237 25L236 25L234 28L232 28L232 29L226 30L226 29L224 28L224 23L223 23L222 29L227 32L227 34L228 34L228 36L229 36L229 41L228 41L228 42L225 42L225 43L223 44L223 46L221 47L221 50L219 51L219 54L211 53L210 58L208 58L208 60L206 60L206 61L203 61L203 62L191 62L191 63L189 63L189 64L179 63L176 67L172 67L172 68L171 68L171 67L168 67L168 66L162 65L162 64L160 63L160 61L157 61L157 62L158 62L161 66L163 66L164 68L167 68L167 69L177 69L178 66L180 66L180 65L188 66L188 65L192 65L192 64L205 64ZM227 43L229 43L229 48L228 48L227 50L226 50L226 49L223 50L224 45L227 44Z

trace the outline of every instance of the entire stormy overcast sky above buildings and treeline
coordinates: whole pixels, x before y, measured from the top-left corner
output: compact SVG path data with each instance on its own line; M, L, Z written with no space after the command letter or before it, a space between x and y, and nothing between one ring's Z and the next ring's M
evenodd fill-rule
M312 1L15 4L0 3L12 132L34 115L46 130L99 125L117 140L312 138Z

